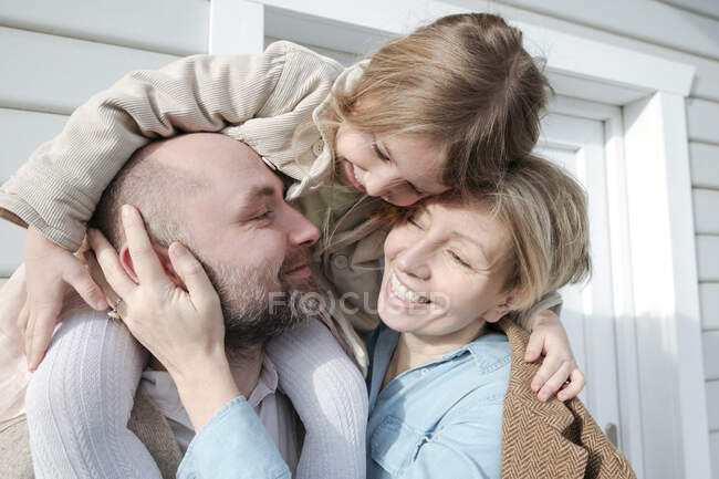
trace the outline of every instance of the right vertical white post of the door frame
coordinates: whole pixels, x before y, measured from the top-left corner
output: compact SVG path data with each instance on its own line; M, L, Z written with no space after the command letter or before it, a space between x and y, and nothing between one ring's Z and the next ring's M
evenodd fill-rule
M709 434L684 98L655 93L625 106L624 121L644 447L652 451L645 472L705 478Z

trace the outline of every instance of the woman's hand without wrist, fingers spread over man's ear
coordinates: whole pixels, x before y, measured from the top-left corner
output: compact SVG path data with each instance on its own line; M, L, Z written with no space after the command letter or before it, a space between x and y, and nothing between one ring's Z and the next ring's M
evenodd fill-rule
M125 206L122 218L139 284L127 275L115 249L100 231L88 230L87 238L112 288L108 300L111 304L122 300L118 312L129 331L174 375L190 371L198 357L218 352L225 355L220 300L199 261L178 242L168 249L171 267L186 291L166 274L139 212Z

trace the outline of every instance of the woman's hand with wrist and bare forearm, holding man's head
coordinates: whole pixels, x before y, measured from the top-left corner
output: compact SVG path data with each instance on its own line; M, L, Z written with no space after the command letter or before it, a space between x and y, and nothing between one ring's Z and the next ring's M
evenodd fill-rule
M87 237L106 278L103 288L133 335L175 379L196 430L240 395L225 354L220 300L202 265L180 243L170 244L171 268L187 291L176 285L153 249L139 211L122 210L127 247L138 283L125 272L115 249L96 230ZM91 268L93 268L91 265Z

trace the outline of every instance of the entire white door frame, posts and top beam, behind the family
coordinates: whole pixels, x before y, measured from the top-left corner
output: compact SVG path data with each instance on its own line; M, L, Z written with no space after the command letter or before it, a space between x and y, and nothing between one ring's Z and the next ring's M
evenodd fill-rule
M468 11L433 0L395 0L392 8L385 0L211 0L210 52L260 53L267 35L364 54ZM695 69L509 20L532 54L546 56L556 93L576 98L561 101L563 107L605 122L621 408L633 431L622 438L626 456L638 477L709 477L685 118ZM622 114L587 113L582 100L619 106Z

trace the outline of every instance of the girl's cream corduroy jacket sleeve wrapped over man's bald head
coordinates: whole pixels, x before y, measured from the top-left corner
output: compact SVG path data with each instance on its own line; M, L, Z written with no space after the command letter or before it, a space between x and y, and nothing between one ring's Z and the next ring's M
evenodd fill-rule
M321 59L277 42L261 55L196 55L129 73L80 106L62 133L2 185L0 217L31 225L74 251L103 190L136 149L254 117L309 121L310 106L327 95L337 74L335 64ZM325 71L317 72L317 64Z

